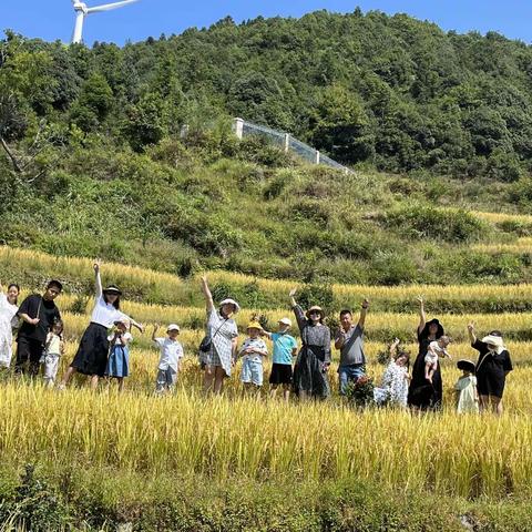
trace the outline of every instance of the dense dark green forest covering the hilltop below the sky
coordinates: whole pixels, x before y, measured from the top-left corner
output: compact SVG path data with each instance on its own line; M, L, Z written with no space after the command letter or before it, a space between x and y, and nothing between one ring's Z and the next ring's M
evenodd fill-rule
M225 114L390 172L512 181L532 154L532 49L402 14L226 18L123 49L9 33L0 61L0 132L11 141L30 117L47 119L141 151ZM6 119L10 103L25 120Z

